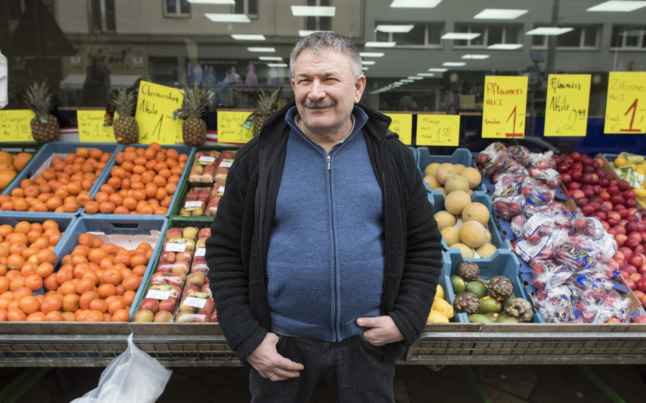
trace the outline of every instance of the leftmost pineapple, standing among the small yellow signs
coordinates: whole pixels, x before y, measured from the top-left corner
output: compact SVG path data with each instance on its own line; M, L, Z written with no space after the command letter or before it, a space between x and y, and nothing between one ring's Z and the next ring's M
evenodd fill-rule
M52 94L45 82L34 83L25 93L27 106L36 116L31 120L31 135L37 143L58 140L60 134L58 120L49 114L52 107Z

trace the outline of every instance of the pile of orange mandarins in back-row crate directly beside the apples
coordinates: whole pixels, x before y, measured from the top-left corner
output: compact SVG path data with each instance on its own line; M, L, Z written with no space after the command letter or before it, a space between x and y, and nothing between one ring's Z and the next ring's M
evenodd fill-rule
M187 154L157 143L126 147L115 155L110 177L85 203L85 212L165 215L187 160Z

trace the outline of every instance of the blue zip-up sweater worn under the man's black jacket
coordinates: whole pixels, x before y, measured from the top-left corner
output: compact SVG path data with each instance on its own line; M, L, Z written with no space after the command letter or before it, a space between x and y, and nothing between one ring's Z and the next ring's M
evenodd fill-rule
M268 302L279 334L341 341L355 320L379 316L384 273L383 206L361 129L329 154L286 116L287 140L267 254Z

